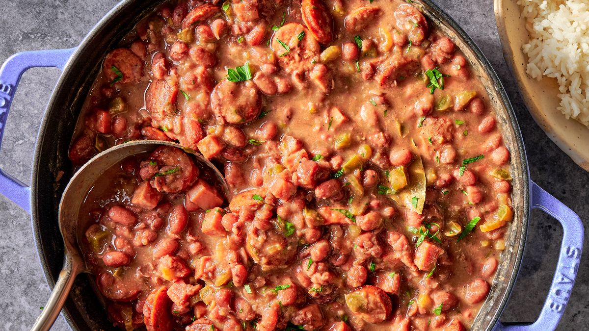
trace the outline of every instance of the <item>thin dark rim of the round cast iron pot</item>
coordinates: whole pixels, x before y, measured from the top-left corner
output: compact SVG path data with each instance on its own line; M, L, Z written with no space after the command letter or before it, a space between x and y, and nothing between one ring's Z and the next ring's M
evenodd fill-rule
M52 274L51 267L49 266L49 261L47 260L47 254L45 252L44 246L41 241L41 237L43 236L42 227L41 227L41 224L39 224L39 218L38 218L38 216L39 216L39 214L38 214L39 213L38 199L43 198L41 194L38 194L39 188L42 188L42 187L39 187L39 183L38 183L38 178L39 178L38 173L39 173L39 168L41 167L41 164L39 164L39 160L41 158L41 150L42 150L42 143L43 143L41 138L45 137L45 135L47 134L47 131L48 131L49 110L56 109L56 108L59 108L60 106L62 106L62 104L59 102L59 100L57 98L57 95L59 94L58 91L60 90L60 88L65 86L64 83L67 81L68 76L70 76L72 74L72 70L74 69L73 68L74 64L81 62L81 61L83 62L84 58L82 55L85 52L88 52L88 51L91 51L92 49L94 49L94 47L92 45L92 40L95 38L100 38L100 35L103 32L102 30L105 27L107 27L107 25L111 24L111 21L118 14L120 14L121 11L124 11L124 9L130 8L131 6L135 5L137 2L141 2L141 1L123 0L123 1L119 2L117 5L114 6L114 8L112 8L110 11L108 11L107 14L105 14L100 19L100 21L98 21L97 24L91 29L91 31L88 32L88 34L84 37L84 39L82 39L82 41L80 42L80 45L78 45L77 49L71 55L70 59L68 60L67 64L64 67L64 70L62 71L61 76L59 77L56 87L55 87L54 91L52 92L51 98L49 99L49 102L47 105L47 110L45 111L44 117L42 118L41 124L39 126L39 134L38 134L39 138L37 140L37 143L35 144L35 153L34 153L32 177L31 177L31 223L32 223L32 230L33 230L32 232L33 232L33 236L34 236L34 240L35 240L35 246L37 248L37 255L38 255L39 261L41 262L41 267L42 267L42 270L43 270L43 273L45 276L45 280L47 281L47 283L51 289L53 289L53 287L55 286L55 280L57 279L57 277L55 277L54 274ZM161 1L161 3L163 3L163 2L164 1ZM160 5L160 4L158 4L158 5ZM512 132L513 132L512 135L515 138L513 145L515 147L517 147L517 150L519 152L519 153L515 153L515 154L519 155L519 157L517 157L517 158L514 158L513 157L514 153L512 153L511 163L512 163L512 167L513 167L514 161L517 161L517 165L519 165L519 167L522 169L521 178L514 178L514 181L521 180L521 183L520 183L521 184L521 197L520 197L520 199L522 201L521 201L520 206L522 206L522 211L521 211L522 216L521 216L521 220L519 220L521 222L521 233L519 234L519 236L514 238L518 242L509 243L511 245L514 245L517 243L518 245L517 245L517 251L515 251L515 258L512 257L512 259L515 259L515 263L513 263L514 267L511 270L511 272L509 272L508 279L506 279L507 286L502 291L502 293L501 293L502 295L499 297L496 297L494 299L494 301L492 301L492 303L495 303L495 309L494 309L494 312L489 312L492 315L491 318L489 319L489 314L487 314L487 315L485 315L487 320L482 322L482 323L484 323L484 325L487 325L487 327L485 327L486 330L491 330L498 323L499 318L501 317L501 313L504 310L505 306L507 305L509 296L513 290L515 280L517 280L519 267L521 265L521 260L522 260L523 254L524 254L525 240L526 240L527 231L528 231L528 221L529 221L529 217L530 217L530 208L531 208L531 206L530 206L530 194L531 194L530 181L531 180L530 180L530 171L528 169L528 161L527 161L527 156L525 153L523 138L521 136L521 131L519 130L519 125L518 125L517 118L515 116L515 111L511 105L511 102L509 101L507 91L505 91L505 88L503 87L501 80L499 80L497 73L492 68L490 62L485 57L485 55L482 53L481 49L478 48L477 44L475 44L475 42L472 40L472 38L469 37L468 34L466 34L464 29L462 29L454 21L454 19L451 18L451 16L446 14L446 12L443 9L441 9L438 5L434 4L434 2L432 0L413 0L413 4L414 5L421 5L422 8L425 8L425 11L423 11L423 14L425 14L426 16L428 16L429 19L434 21L436 27L440 26L441 24L445 24L449 28L451 28L452 31L454 32L454 34L456 35L456 37L460 38L461 41L464 42L464 44L468 47L469 51L472 51L474 53L475 58L477 59L477 61L481 65L482 72L487 74L488 78L492 82L492 88L490 88L490 91L488 90L489 94L491 94L491 91L494 91L494 94L496 94L498 97L499 104L501 104L501 106L504 108L505 112L507 113L509 129L512 130ZM151 6L153 6L153 5L151 5ZM118 42L118 40L117 40L117 42ZM59 240L61 240L61 239L59 239ZM497 301L499 301L498 304L497 304ZM485 318L485 317L481 316L481 313L483 313L483 308L487 305L490 306L491 304L488 301L485 302L485 304L481 307L481 310L479 310L477 317L474 320L474 323L477 323L477 321L481 320L482 318ZM68 307L64 306L64 309L62 310L62 316L64 316L65 320L67 321L67 323L71 327L71 329L73 329L73 330L77 329L77 326L75 325L74 321L71 318L71 313L69 312Z

